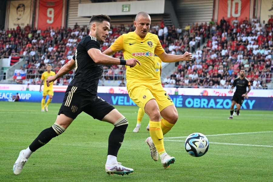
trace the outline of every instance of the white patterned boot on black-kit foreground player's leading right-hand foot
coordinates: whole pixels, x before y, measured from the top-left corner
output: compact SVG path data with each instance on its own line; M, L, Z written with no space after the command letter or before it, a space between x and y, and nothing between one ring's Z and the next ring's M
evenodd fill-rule
M129 167L122 166L120 162L113 163L111 165L105 164L105 171L107 174L119 174L119 175L124 175L124 174L130 174L133 173L134 170Z

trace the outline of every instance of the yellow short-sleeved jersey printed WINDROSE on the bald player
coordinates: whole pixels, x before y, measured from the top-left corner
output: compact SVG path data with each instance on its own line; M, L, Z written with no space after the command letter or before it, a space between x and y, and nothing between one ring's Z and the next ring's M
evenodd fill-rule
M149 82L158 82L154 56L160 55L164 49L157 35L150 32L144 38L138 36L135 32L129 32L120 35L110 46L114 52L123 51L124 59L135 58L140 61L133 68L126 66L126 80L145 80Z

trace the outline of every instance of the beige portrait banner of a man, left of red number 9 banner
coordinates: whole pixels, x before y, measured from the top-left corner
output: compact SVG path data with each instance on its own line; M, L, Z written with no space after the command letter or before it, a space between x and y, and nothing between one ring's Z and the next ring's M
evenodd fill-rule
M8 28L16 29L18 24L20 27L30 24L30 5L30 0L10 2Z

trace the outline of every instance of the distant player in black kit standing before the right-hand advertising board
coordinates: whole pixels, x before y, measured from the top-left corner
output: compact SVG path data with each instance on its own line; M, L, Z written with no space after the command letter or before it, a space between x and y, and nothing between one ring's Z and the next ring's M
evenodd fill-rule
M250 82L245 77L245 71L242 69L240 70L240 76L234 79L234 82L232 83L232 86L230 88L230 92L233 92L233 88L236 86L235 93L231 99L231 107L230 107L230 117L228 119L233 119L233 112L234 112L234 105L236 103L236 112L239 116L241 106L244 102L244 97L248 98L248 93L250 91ZM248 91L246 88L248 87Z

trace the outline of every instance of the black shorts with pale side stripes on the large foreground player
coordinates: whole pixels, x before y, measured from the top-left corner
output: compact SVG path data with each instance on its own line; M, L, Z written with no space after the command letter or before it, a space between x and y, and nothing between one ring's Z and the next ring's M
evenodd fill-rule
M88 90L68 86L58 115L64 114L75 119L83 111L94 119L102 120L113 109L111 104L99 96L91 95Z

